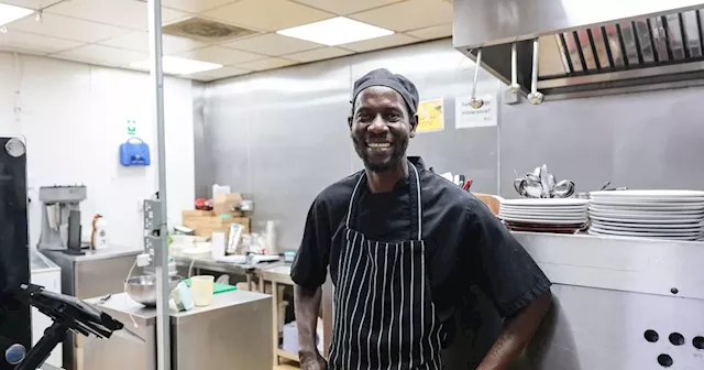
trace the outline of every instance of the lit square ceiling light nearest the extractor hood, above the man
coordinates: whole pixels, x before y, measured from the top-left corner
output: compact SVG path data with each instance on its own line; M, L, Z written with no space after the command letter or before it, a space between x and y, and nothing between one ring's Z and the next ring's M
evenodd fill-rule
M311 41L328 46L342 45L362 40L394 34L394 31L362 23L344 17L298 25L277 31L279 35Z

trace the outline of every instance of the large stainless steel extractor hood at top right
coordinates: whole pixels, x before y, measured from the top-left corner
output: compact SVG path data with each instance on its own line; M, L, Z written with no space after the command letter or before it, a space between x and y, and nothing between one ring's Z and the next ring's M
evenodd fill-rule
M701 85L702 9L701 0L454 0L453 44L475 62L481 50L482 67L507 85L515 72L526 94L538 50L546 99Z

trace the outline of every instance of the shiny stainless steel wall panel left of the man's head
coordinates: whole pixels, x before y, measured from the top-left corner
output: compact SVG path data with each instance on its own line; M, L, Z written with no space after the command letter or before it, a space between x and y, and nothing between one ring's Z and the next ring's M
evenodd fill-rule
M260 220L279 221L279 249L297 249L308 208L351 174L345 59L215 84L209 122L216 182L255 200Z

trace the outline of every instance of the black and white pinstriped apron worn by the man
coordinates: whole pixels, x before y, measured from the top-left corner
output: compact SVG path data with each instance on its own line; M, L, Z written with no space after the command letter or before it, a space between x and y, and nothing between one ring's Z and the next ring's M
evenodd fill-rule
M345 220L334 283L330 370L441 370L440 322L430 297L418 170L409 162L413 240L370 240L350 226L363 173Z

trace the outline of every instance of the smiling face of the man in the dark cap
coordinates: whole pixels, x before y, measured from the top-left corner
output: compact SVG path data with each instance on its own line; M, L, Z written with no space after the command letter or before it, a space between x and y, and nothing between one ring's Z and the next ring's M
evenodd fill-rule
M406 156L416 122L396 90L372 86L360 92L349 123L354 149L364 166L373 172L396 166Z

